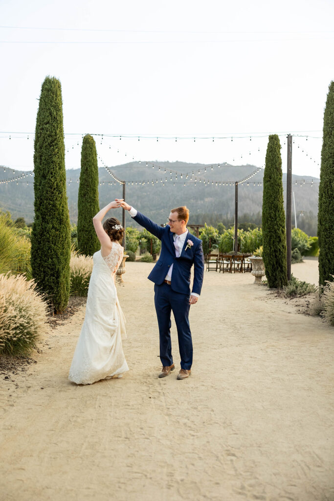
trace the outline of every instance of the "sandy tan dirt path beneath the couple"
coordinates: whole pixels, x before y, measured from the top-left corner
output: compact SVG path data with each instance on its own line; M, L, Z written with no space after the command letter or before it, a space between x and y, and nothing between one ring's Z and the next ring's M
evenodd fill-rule
M333 330L249 274L206 273L192 376L158 379L152 265L126 268L123 379L68 381L81 307L1 380L0 499L332 501Z

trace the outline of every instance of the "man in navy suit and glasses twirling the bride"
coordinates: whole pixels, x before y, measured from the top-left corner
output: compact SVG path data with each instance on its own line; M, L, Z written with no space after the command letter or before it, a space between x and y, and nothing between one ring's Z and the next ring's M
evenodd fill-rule
M162 371L158 377L168 376L175 369L170 338L171 311L173 311L181 356L181 370L177 379L185 379L191 374L193 353L189 308L190 305L197 303L203 282L202 240L187 230L189 210L185 206L172 209L167 220L168 224L162 227L123 200L116 201L130 211L135 221L161 240L159 260L148 276L155 284L154 304L158 318L162 363ZM192 265L194 265L194 280L190 294Z

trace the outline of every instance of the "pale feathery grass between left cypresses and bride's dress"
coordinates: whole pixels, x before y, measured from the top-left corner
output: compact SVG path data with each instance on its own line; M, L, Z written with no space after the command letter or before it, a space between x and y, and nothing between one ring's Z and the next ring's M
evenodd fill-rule
M89 281L93 271L93 258L71 252L70 277L72 296L87 297Z

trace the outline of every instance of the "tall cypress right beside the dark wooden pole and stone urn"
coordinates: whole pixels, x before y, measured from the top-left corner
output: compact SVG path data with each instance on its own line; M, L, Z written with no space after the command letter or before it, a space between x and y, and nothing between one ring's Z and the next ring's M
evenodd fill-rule
M263 263L269 287L287 284L282 159L277 134L269 136L263 176Z

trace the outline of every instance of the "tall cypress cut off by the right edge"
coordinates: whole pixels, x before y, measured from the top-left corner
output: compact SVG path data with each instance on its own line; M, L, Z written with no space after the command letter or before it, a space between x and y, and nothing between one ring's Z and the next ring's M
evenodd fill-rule
M329 84L323 115L318 208L319 286L334 275L334 81Z

